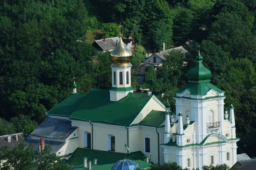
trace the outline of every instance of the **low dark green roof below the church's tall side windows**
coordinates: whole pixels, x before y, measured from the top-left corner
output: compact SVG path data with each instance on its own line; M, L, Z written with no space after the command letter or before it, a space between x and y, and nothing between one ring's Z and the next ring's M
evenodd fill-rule
M119 160L125 159L133 159L133 160L143 160L144 154L140 151L132 152L129 154L125 153L117 153L111 151L103 151L103 150L92 150L86 148L77 148L73 153L73 156L68 159L69 164L80 165L83 164L83 159L86 156L88 160L98 159L97 165L104 164L114 164Z

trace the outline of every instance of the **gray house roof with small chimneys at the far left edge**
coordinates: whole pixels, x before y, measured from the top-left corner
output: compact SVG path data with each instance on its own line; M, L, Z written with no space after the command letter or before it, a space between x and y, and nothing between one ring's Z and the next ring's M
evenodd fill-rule
M16 135L18 140L16 141ZM11 136L11 142L8 142L7 137ZM18 146L21 142L26 139L26 135L24 133L15 133L10 135L0 136L0 147L9 146L10 150L13 150L15 146Z

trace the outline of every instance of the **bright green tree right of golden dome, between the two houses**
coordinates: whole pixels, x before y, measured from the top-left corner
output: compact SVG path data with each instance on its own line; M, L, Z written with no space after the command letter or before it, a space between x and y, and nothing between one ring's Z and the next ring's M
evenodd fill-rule
M136 45L136 49L133 51L133 57L131 59L132 65L140 65L146 56L146 50L142 45Z

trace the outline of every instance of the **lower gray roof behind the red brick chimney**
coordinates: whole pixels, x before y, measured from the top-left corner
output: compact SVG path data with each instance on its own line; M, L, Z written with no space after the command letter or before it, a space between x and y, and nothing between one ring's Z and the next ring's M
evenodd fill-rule
M32 146L34 149L34 152L38 152L39 145L40 145L40 139L26 140L26 144L28 144L26 147ZM52 153L57 153L61 149L61 147L64 146L65 142L45 140L44 144L45 144L45 146L50 145L52 147L52 150L50 151L50 154L52 154Z

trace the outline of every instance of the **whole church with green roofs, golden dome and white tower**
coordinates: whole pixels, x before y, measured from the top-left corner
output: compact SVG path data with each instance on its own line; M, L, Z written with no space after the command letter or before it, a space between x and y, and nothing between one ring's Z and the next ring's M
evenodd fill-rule
M150 92L134 91L131 57L120 37L111 51L112 87L80 94L74 81L73 94L47 111L29 143L54 143L54 153L64 162L89 170L110 170L125 157L140 168L168 161L191 170L224 163L232 167L239 141L234 107L224 111L224 91L210 83L211 72L200 52L187 74L188 84L174 97L176 113L168 101L163 104Z

